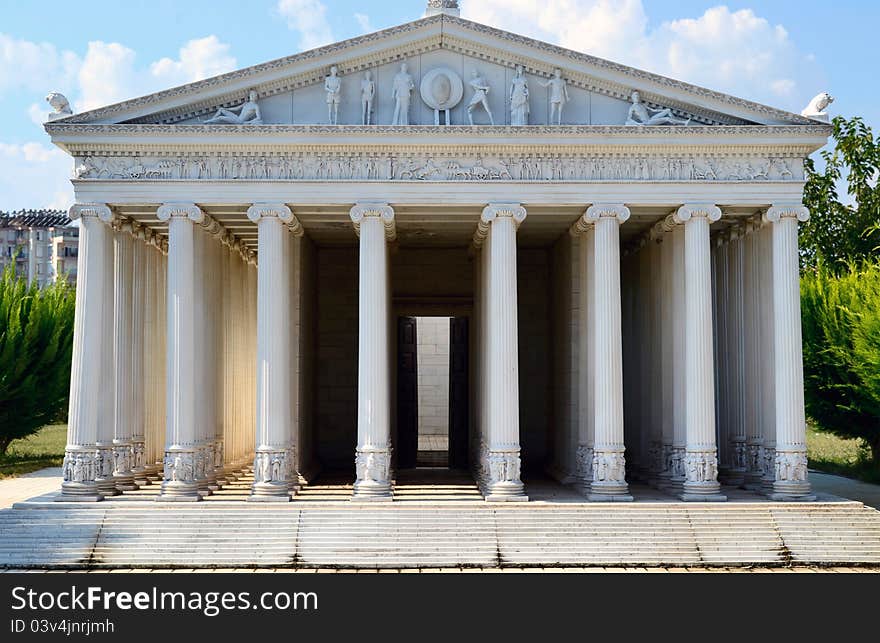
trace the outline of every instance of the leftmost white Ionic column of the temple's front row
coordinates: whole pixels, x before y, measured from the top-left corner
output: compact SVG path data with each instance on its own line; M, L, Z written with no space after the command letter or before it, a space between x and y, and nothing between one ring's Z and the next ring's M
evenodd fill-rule
M103 203L76 204L70 218L80 220L79 256L77 258L76 308L73 326L73 357L70 370L70 404L67 423L67 446L64 449L63 475L59 501L96 502L98 478L105 462L99 453L98 438L111 431L113 418L104 414L106 392L113 390L113 232L104 223L113 214ZM111 472L112 473L112 472ZM112 478L111 478L112 479Z

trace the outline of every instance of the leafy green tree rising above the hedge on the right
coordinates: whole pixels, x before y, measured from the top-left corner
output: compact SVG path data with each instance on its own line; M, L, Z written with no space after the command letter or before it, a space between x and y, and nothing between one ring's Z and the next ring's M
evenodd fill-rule
M832 121L834 148L822 152L825 168L805 164L804 205L810 220L801 226L802 266L820 261L831 270L845 271L850 262L876 259L880 247L880 138L861 118ZM848 198L841 201L838 186L846 181Z

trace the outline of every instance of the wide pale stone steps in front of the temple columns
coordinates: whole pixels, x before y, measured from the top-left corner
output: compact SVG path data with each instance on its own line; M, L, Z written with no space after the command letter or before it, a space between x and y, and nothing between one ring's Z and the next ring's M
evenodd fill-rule
M858 503L210 504L0 511L0 565L880 564L880 512Z

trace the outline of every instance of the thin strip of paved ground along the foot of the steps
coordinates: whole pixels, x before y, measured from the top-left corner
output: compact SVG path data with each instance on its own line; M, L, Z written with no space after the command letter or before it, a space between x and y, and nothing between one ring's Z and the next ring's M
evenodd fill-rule
M816 573L843 573L843 574L877 574L880 573L878 567L426 567L422 569L330 569L330 568L309 568L309 569L288 569L265 568L265 569L91 569L91 570L65 570L65 569L0 569L0 574L4 573L25 573L25 574L149 574L149 573L168 573L175 574L205 574L205 573L235 573L235 574L435 574L435 573L532 573L532 574L598 574L603 572L609 573L751 573L751 574L816 574Z

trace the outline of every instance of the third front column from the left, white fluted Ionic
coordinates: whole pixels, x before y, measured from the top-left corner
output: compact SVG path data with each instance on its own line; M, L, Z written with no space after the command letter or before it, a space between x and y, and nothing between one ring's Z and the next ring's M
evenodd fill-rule
M284 204L255 204L248 218L257 224L257 444L252 501L290 500L293 417L290 301L291 239L301 230Z

